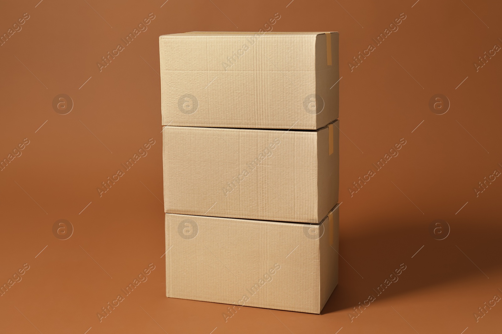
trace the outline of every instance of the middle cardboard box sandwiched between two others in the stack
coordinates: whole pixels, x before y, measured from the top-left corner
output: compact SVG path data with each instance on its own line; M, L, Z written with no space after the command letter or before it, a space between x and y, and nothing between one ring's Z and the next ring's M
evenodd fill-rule
M164 127L165 212L320 222L338 202L338 124L314 131Z

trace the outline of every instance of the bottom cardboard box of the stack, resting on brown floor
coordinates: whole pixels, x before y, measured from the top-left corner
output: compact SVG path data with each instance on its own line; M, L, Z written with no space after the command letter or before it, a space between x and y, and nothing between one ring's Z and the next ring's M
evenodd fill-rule
M338 283L338 208L320 224L166 214L168 297L320 313Z

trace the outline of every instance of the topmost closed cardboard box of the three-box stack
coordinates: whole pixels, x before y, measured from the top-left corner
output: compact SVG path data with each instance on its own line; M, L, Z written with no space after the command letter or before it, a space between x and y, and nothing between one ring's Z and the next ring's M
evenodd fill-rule
M162 124L319 129L338 118L338 33L159 38Z

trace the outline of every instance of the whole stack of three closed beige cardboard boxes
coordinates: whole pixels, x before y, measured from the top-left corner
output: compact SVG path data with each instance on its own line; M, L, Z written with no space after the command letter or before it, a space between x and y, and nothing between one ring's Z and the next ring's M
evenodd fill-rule
M320 313L338 282L338 34L160 37L168 297Z

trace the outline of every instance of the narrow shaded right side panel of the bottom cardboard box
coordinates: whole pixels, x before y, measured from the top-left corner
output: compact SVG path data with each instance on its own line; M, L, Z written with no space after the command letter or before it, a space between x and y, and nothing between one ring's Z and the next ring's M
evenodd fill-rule
M320 252L320 304L319 312L328 301L338 284L339 208L336 206L328 215L324 235L319 239Z

